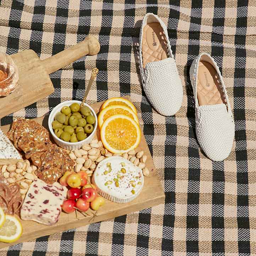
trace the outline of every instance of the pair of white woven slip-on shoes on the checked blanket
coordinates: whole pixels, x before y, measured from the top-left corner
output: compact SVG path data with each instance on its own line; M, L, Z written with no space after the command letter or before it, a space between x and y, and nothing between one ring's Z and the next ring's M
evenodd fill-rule
M139 40L140 75L146 96L164 116L177 113L183 88L163 21L153 13L143 18ZM227 91L219 68L207 53L201 53L190 67L195 97L196 137L213 161L231 152L235 127Z

